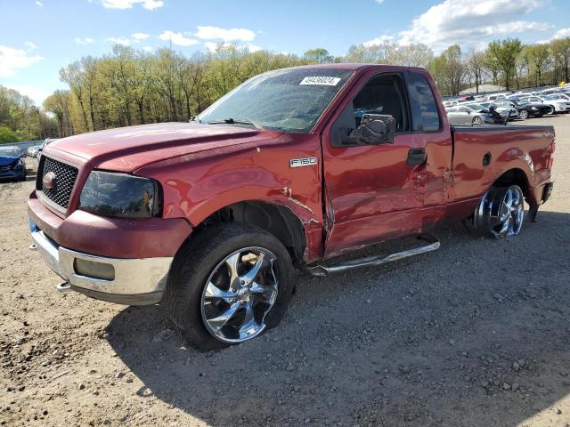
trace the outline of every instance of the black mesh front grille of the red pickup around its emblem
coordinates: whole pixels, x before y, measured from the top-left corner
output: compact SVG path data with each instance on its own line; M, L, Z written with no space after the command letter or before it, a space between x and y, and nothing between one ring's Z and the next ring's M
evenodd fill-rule
M53 189L44 188L44 176L46 173L55 173L55 185ZM56 205L68 207L71 190L77 179L77 167L54 160L51 157L42 156L37 171L36 189L42 191Z

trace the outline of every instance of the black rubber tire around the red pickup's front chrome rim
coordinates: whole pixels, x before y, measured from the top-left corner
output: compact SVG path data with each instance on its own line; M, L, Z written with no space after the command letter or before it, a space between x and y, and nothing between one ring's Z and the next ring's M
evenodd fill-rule
M192 347L215 350L227 347L210 334L201 314L204 287L211 272L224 258L248 246L263 247L276 255L274 262L278 294L265 315L265 332L283 318L293 294L293 265L287 249L272 234L241 222L225 222L202 230L189 239L175 256L165 292L165 302L175 326ZM276 265L275 265L276 264Z

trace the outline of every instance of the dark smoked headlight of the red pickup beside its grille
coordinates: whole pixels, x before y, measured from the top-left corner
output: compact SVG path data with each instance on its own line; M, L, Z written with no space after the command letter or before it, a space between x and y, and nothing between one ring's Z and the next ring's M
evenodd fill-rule
M79 197L79 208L94 214L123 218L159 216L159 183L147 178L93 171Z

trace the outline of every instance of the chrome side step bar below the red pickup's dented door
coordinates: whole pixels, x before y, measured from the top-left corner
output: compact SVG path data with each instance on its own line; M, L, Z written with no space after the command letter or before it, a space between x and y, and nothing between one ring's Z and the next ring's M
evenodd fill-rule
M314 267L306 267L305 271L312 276L318 276L324 278L330 273L338 273L340 271L348 271L359 269L361 267L371 267L382 264L387 264L388 262L395 262L408 258L410 256L426 254L428 252L436 251L439 249L439 240L434 236L421 235L418 237L419 240L426 242L427 245L413 247L411 249L406 249L404 251L395 252L394 254L387 254L381 256L366 256L364 258L359 258L356 260L350 260L346 262L338 262L337 264L331 265L315 265Z

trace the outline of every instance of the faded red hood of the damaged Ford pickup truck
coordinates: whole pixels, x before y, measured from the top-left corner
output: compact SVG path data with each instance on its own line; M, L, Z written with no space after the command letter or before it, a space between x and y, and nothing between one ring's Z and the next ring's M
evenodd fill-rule
M45 154L69 161L74 158L76 163L93 168L134 172L167 158L240 149L240 146L272 140L280 134L234 125L139 125L63 138L47 146Z

